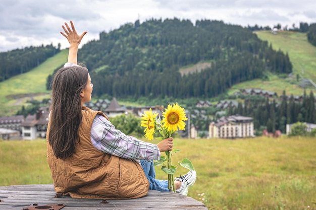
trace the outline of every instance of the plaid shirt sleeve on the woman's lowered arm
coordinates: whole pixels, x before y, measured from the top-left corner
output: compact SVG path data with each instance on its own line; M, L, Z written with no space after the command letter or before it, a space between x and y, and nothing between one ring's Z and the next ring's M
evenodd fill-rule
M157 145L126 135L102 115L96 115L91 127L92 145L99 151L133 160L159 160Z

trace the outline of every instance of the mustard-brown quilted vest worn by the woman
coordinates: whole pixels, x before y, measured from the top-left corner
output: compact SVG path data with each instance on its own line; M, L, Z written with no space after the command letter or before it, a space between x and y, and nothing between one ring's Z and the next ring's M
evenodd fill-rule
M80 142L72 157L57 159L48 143L47 162L57 194L74 198L129 199L148 193L149 182L138 162L127 160L95 149L90 129L96 114L84 107L79 127Z

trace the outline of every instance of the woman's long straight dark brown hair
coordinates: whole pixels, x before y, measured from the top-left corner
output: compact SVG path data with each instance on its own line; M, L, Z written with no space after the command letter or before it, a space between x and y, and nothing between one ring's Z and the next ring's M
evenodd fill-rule
M80 93L86 87L88 69L61 68L52 81L48 142L57 158L65 160L76 149L81 124Z

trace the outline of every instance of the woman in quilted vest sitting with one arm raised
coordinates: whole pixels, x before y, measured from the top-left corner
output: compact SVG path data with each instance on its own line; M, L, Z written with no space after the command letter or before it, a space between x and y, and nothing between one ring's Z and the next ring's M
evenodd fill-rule
M151 160L172 150L173 138L157 145L122 133L101 111L84 106L93 85L88 69L77 65L80 36L74 24L61 32L70 43L68 61L52 82L47 127L47 162L57 194L77 198L138 198L148 189L170 191L168 181L155 179ZM186 195L196 172L176 178L176 191Z

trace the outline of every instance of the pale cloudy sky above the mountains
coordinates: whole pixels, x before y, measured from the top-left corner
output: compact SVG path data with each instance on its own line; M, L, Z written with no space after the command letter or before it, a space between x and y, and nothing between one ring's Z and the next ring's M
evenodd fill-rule
M1 0L0 52L50 44L68 47L61 25L72 20L82 44L136 20L222 20L241 26L316 23L314 0Z

